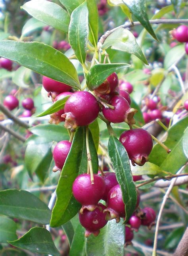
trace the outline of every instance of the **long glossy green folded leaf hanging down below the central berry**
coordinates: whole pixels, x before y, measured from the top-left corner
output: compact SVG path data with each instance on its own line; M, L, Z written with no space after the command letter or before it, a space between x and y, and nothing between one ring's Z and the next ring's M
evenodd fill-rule
M89 146L93 171L94 173L97 173L98 156L91 133L89 133ZM50 221L51 227L58 227L66 223L73 218L73 216L77 214L79 208L81 208L80 204L73 197L72 185L77 175L86 172L86 131L85 127L79 127L75 133L71 149L65 160L59 178L58 187L56 189L57 200Z

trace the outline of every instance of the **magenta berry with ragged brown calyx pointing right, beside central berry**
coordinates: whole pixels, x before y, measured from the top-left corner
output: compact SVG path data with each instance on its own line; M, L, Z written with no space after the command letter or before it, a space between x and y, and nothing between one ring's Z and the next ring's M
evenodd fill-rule
M113 96L109 101L114 109L102 107L104 117L112 123L127 122L134 124L134 114L137 112L134 108L130 108L128 101L122 96Z

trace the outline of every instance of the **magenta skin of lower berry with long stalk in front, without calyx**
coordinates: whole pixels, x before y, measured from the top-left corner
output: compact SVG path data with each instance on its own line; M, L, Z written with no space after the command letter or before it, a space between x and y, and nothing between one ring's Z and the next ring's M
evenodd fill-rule
M97 204L104 191L104 179L97 174L94 174L94 184L91 184L89 174L81 174L73 182L73 195L82 205Z

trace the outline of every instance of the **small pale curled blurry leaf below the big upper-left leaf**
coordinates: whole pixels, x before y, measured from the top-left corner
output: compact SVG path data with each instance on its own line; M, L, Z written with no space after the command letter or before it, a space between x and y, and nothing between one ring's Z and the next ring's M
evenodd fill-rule
M19 87L28 88L29 85L27 85L24 81L25 74L28 71L31 72L31 70L27 67L19 67L12 76L13 83L15 83Z

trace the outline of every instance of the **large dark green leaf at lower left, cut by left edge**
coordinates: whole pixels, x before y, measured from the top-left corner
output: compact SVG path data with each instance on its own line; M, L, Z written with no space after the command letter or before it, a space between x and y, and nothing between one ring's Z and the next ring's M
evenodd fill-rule
M33 194L17 189L0 191L0 214L48 224L51 212L44 202Z

